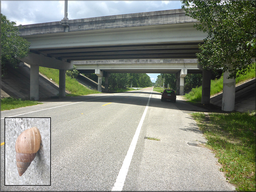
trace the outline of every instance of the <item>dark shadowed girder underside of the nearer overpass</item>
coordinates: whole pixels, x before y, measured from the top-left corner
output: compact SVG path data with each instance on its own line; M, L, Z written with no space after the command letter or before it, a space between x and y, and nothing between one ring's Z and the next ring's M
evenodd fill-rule
M33 53L69 60L196 58L201 42L86 46L76 48L32 48Z

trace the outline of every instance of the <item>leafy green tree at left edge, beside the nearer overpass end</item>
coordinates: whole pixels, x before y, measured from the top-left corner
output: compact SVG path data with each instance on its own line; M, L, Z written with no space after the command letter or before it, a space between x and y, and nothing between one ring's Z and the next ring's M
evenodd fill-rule
M20 25L21 26L21 25ZM30 42L19 36L19 29L16 22L10 21L1 14L1 67L2 76L4 76L5 66L10 65L17 68L20 60L17 57L27 57L29 54Z

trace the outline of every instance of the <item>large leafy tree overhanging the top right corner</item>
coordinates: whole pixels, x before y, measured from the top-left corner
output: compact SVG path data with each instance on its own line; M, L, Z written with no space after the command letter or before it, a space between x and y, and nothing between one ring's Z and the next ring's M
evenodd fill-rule
M200 21L194 24L197 30L208 33L196 54L204 69L223 68L236 78L254 67L255 1L183 0L182 8Z

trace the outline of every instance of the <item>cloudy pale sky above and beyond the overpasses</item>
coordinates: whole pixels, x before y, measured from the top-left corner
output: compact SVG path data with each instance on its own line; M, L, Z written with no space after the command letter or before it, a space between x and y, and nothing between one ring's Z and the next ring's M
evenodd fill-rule
M17 25L47 23L64 18L65 1L10 1L1 0L1 13ZM68 19L83 19L119 14L141 13L181 9L181 2L175 1L87 1L68 0ZM159 73L147 73L155 82Z

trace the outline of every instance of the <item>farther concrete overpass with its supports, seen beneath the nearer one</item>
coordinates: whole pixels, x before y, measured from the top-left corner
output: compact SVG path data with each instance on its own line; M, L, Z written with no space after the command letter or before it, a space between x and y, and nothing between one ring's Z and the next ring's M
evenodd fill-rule
M85 60L74 61L76 69L82 73L96 73L98 82L105 77L105 91L108 90L110 73L175 73L176 93L184 94L184 77L187 73L202 73L197 59L125 59L125 60ZM103 72L101 74L101 72ZM182 75L181 75L182 74ZM101 85L98 83L98 90Z

